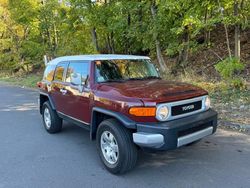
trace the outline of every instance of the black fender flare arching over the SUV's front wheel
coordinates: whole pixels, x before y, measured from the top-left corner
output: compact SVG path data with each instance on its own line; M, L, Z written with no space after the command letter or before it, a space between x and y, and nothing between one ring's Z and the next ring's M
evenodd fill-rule
M124 114L119 113L119 112L115 112L115 111L111 111L111 110L107 110L104 108L100 108L100 107L93 107L92 115L91 115L91 124L90 124L90 138L91 138L91 140L95 139L95 133L96 133L97 127L98 127L97 119L96 119L96 114L97 114L96 112L102 113L102 114L105 114L105 115L108 115L110 117L117 119L118 121L121 122L121 124L123 126L125 126L128 129L136 129L136 122L129 119Z

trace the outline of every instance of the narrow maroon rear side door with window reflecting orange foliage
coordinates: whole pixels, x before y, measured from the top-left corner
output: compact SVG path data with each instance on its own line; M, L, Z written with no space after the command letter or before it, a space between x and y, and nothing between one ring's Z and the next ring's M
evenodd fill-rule
M68 62L58 63L56 66L54 78L51 84L51 96L55 104L56 110L65 113L66 93L65 76L68 67Z

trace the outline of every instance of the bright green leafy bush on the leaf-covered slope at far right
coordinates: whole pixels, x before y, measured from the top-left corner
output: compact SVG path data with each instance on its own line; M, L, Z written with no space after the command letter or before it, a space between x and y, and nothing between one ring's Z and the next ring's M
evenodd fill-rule
M237 71L244 70L244 65L236 58L226 58L215 65L215 69L220 73L222 78L232 79Z

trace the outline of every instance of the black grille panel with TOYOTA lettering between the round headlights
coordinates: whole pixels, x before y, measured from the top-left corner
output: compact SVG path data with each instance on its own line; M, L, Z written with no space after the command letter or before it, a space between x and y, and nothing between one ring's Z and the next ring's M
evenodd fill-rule
M187 104L172 106L171 115L178 116L186 113L190 113L193 111L200 110L202 107L202 101L191 102Z

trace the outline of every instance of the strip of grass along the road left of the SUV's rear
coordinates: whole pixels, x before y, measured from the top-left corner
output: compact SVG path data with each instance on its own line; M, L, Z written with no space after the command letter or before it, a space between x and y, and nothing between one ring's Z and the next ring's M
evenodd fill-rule
M29 87L29 88L36 88L36 83L41 81L42 75L41 74L28 74L24 76L16 76L16 75L6 75L0 74L0 81L9 83L12 85Z

